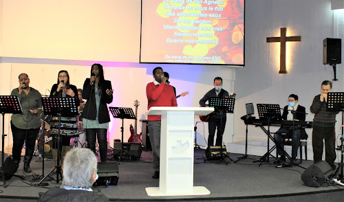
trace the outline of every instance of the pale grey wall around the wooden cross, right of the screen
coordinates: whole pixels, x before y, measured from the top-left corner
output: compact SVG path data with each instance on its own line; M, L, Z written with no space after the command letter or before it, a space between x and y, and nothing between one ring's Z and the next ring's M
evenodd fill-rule
M256 104L283 107L288 104L288 96L295 93L299 104L309 113L306 120L313 120L312 100L320 93L321 82L334 78L332 67L323 65L323 39L333 38L334 30L343 38L343 17L338 19L341 27L335 25L334 29L333 16L330 0L246 0L246 67L236 69L235 141L245 138L245 125L239 117L246 114L248 102L255 104L257 117ZM301 42L288 43L288 74L278 74L280 44L266 43L266 37L280 36L280 27L287 27L287 36L301 36ZM338 65L337 74L333 89L344 91L343 65ZM336 120L336 132L341 133L341 114ZM307 132L311 140L312 129ZM249 128L248 138L266 141L265 133L253 126Z

